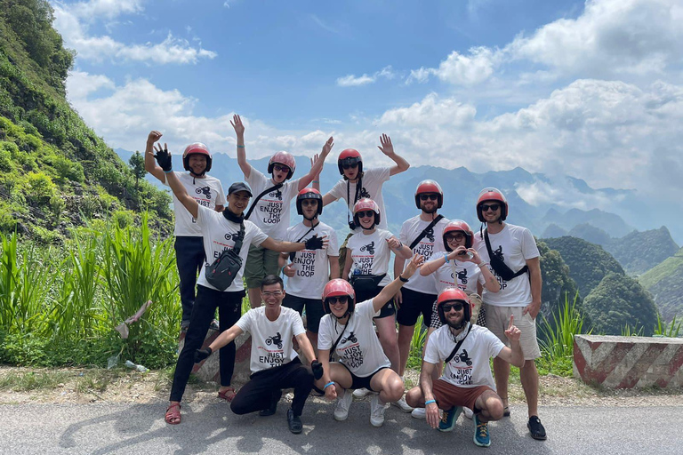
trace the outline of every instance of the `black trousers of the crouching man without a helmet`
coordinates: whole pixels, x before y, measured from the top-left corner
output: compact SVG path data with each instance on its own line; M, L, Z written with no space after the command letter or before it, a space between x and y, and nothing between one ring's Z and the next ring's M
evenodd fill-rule
M239 389L230 403L230 409L236 414L269 409L273 395L283 388L292 387L292 411L295 416L301 416L303 405L313 388L313 372L310 367L301 364L299 357L290 363L254 373L252 379Z

